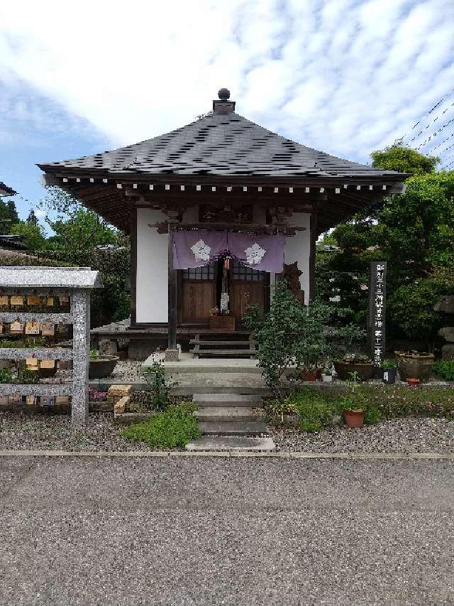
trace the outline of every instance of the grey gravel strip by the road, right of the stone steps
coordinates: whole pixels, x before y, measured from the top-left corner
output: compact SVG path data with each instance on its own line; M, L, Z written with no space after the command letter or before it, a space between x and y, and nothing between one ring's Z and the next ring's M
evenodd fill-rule
M319 433L272 428L276 450L309 453L454 453L454 421L398 418L350 429L335 426Z

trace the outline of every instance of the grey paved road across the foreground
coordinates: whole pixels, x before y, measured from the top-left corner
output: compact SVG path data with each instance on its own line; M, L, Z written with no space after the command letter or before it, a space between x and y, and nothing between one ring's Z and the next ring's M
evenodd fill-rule
M0 458L0 604L454 605L453 472Z

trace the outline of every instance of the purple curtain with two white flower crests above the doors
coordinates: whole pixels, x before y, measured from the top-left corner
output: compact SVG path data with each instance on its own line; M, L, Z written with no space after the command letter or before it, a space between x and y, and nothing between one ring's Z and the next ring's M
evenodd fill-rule
M230 253L258 271L284 271L283 236L182 230L172 232L172 247L174 269L203 267Z

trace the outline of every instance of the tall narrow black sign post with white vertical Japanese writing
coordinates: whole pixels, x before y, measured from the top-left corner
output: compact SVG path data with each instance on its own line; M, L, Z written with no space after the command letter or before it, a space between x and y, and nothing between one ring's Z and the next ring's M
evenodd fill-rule
M380 368L385 352L386 261L369 264L369 349L375 367Z

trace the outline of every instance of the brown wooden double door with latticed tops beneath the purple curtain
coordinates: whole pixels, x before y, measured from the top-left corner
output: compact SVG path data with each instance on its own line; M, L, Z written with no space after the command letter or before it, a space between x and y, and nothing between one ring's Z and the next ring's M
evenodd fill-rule
M181 279L181 323L204 324L209 311L221 304L221 293L229 294L229 308L241 321L249 305L267 307L269 277L265 271L250 269L239 261L219 259L214 263L194 269L183 269Z

